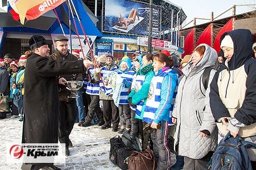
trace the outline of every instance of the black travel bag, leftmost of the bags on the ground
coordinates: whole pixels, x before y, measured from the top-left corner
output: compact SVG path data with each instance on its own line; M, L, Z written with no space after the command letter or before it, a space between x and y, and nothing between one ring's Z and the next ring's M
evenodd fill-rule
M133 153L133 150L133 148L126 147L118 135L110 139L110 160L123 170L128 169L125 160Z

